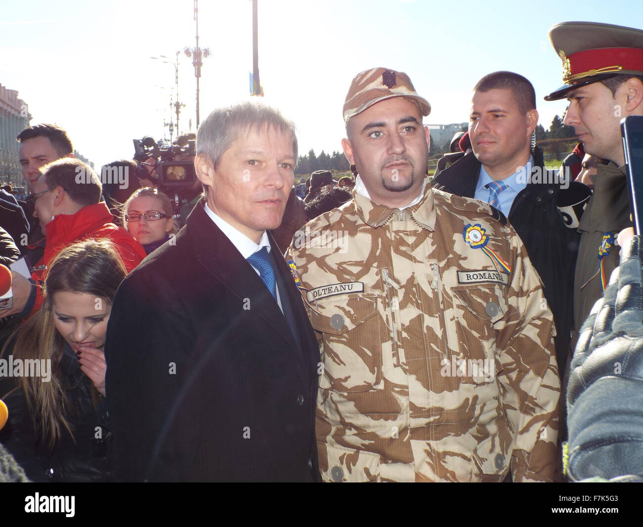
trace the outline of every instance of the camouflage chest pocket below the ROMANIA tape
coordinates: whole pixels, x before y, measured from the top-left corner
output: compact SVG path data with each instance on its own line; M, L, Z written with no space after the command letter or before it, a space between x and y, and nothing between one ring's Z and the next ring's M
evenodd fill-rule
M484 384L495 380L500 361L496 360L496 324L507 315L505 288L500 285L451 288L456 310L455 326L462 365L462 382Z

